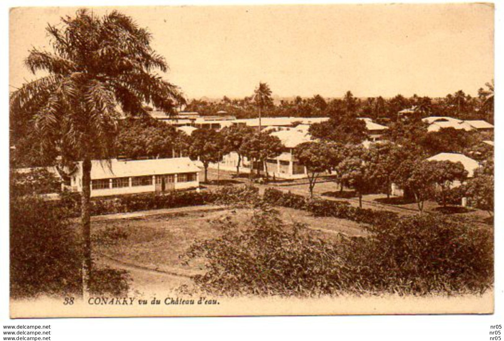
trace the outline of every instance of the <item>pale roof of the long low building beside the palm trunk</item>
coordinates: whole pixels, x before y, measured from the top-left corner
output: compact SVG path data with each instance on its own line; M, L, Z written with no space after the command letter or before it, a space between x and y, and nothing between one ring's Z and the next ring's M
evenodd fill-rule
M93 160L91 179L130 177L156 174L199 172L200 168L190 158L151 160Z

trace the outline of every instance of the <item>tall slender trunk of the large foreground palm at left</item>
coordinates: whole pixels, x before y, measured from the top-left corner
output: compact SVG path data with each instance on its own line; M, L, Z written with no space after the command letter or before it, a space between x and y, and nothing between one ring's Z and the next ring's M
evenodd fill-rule
M81 197L81 224L83 239L82 261L82 294L89 292L89 278L91 276L91 158L86 156L82 163L82 197Z

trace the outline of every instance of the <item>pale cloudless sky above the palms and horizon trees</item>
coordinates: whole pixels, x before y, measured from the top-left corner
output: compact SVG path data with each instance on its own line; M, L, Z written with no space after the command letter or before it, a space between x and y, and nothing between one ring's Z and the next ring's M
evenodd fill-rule
M149 29L187 98L249 96L260 81L279 96L476 95L493 78L489 5L114 8ZM50 48L47 23L75 11L12 10L10 90L34 78L23 59Z

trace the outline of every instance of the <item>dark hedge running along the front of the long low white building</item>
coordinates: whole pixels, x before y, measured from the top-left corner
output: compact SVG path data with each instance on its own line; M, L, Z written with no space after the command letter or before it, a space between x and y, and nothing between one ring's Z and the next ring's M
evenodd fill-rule
M253 186L225 186L215 191L172 191L166 193L138 193L114 197L95 197L91 199L91 215L128 213L136 211L172 209L199 206L207 203L233 204L252 203L258 200L258 189ZM61 194L58 206L68 209L72 217L81 214L79 193Z

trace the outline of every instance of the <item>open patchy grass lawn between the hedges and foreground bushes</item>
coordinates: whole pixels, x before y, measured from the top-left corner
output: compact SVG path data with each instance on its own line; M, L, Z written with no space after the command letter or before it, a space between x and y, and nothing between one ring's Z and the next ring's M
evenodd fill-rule
M281 218L286 222L310 225L319 238L337 239L338 234L363 236L366 232L359 224L343 219L314 218L306 212L282 208ZM222 233L210 221L231 215L238 222L248 221L250 210L223 210L218 212L188 213L175 217L143 217L109 220L93 223L95 252L114 259L151 269L195 275L203 264L187 267L179 255L195 240L215 238Z

